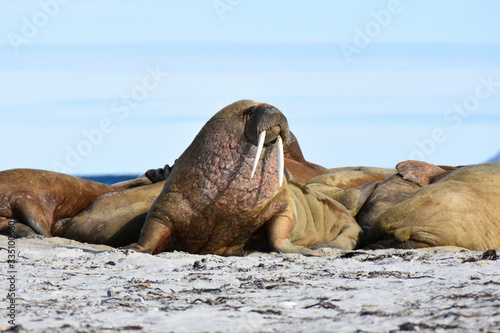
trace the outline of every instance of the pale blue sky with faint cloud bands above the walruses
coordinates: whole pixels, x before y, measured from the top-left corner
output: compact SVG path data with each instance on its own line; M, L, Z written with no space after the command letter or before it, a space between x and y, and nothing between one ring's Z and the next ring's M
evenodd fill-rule
M142 173L219 109L280 108L307 159L500 150L498 1L2 1L0 170Z

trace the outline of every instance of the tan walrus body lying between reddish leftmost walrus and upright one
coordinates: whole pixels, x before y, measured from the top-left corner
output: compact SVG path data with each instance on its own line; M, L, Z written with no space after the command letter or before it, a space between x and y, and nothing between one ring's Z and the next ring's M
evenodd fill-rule
M105 193L78 215L58 221L54 236L113 247L137 242L146 215L165 181Z

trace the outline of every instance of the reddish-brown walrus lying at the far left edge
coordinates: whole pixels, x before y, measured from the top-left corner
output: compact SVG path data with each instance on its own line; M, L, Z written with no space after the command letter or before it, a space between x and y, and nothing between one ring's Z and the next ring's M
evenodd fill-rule
M1 171L0 230L15 237L51 236L56 221L75 216L103 193L123 189L52 171Z

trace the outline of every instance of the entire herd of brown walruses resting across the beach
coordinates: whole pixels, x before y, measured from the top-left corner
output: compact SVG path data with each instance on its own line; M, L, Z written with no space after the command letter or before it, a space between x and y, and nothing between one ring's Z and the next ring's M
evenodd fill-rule
M332 247L500 250L500 163L327 169L286 117L241 100L216 113L172 167L105 185L0 171L0 232L156 254L321 255Z

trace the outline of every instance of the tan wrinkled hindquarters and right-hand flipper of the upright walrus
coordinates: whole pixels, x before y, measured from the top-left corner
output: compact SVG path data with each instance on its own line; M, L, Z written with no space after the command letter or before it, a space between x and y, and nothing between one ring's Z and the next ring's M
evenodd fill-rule
M246 251L272 251L321 255L316 249L352 250L362 231L350 212L314 184L288 181L291 212L270 220L245 246Z

